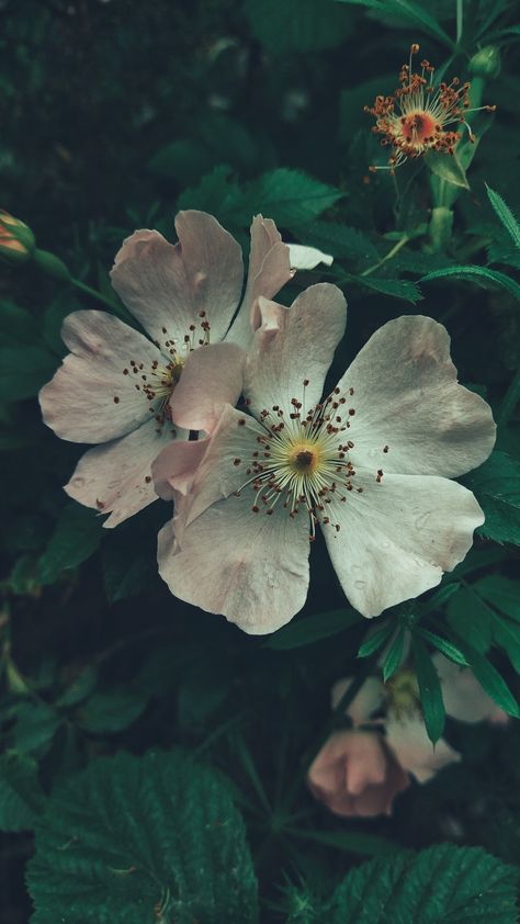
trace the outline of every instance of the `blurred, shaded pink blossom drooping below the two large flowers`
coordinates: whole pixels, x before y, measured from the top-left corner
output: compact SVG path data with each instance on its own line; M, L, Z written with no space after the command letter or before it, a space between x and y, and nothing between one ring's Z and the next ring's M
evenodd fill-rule
M471 723L508 721L470 669L441 654L433 655L433 663L449 715ZM335 685L332 707L350 683ZM383 718L374 718L382 712ZM442 767L461 759L442 739L433 748L419 710L417 679L409 671L399 672L386 685L375 678L366 680L346 714L353 729L328 739L307 777L313 795L335 814L389 815L395 797L409 786L410 774L426 782Z

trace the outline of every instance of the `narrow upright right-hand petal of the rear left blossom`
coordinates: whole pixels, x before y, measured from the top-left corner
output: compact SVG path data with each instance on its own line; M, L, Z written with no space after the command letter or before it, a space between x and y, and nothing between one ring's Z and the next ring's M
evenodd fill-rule
M246 292L227 340L248 349L259 319L255 303L260 296L274 298L294 275L290 250L271 218L256 215L251 225L251 249Z

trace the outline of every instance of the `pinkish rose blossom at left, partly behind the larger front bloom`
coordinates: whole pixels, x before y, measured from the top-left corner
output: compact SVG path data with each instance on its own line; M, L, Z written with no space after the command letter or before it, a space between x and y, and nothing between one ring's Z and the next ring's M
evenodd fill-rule
M193 351L223 340L210 390L212 408L234 404L241 387L240 347L252 337L251 313L259 295L272 297L294 267L331 258L314 248L282 243L274 222L258 215L251 225L249 274L241 249L212 215L180 212L179 243L156 230L128 237L115 258L112 284L147 337L106 312L69 315L63 338L70 349L39 394L45 422L63 439L100 443L90 449L65 486L70 497L111 516L114 527L157 499L150 463L165 444L188 438L173 425L176 401L201 405ZM292 268L293 264L293 268ZM235 370L223 381L218 368ZM186 386L180 387L186 375ZM202 422L211 422L203 420Z

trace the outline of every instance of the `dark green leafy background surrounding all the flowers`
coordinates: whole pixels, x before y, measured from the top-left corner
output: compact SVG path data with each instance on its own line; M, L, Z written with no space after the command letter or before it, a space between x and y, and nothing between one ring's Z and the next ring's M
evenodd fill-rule
M122 238L171 237L177 209L199 207L245 247L261 211L285 239L334 253L282 293L318 278L344 288L332 379L392 317L448 326L461 381L499 421L497 451L463 480L486 523L439 590L385 618L380 642L394 639L395 661L411 632L423 680L428 652L455 645L515 713L519 31L508 0L456 5L459 26L451 0L2 0L0 180L2 205L116 313ZM493 45L500 72L473 76L498 111L455 168L407 165L394 183L368 170L384 161L363 105L394 88L416 41L464 78ZM454 209L440 243L439 183ZM347 823L315 804L304 767L329 688L377 654L324 549L305 610L270 639L174 600L155 564L167 505L103 530L66 498L80 450L35 401L65 352L65 315L103 305L35 266L0 269L2 922L516 921L517 723L449 721L463 763L414 786L392 819ZM437 737L434 689L423 709Z

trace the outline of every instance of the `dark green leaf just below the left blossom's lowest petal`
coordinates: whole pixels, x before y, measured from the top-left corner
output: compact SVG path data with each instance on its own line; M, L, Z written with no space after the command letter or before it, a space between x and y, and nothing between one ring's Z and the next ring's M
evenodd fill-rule
M38 562L42 584L53 584L66 568L77 567L98 549L103 536L99 514L81 504L61 510L49 544Z

